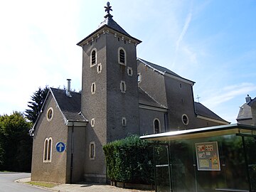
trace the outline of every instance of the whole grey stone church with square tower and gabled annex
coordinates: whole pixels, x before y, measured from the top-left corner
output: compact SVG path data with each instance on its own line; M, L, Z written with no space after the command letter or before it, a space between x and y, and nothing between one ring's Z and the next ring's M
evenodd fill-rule
M137 58L139 39L112 18L110 4L82 48L82 92L50 88L33 135L31 180L106 182L102 146L129 134L229 124L194 102L195 82Z

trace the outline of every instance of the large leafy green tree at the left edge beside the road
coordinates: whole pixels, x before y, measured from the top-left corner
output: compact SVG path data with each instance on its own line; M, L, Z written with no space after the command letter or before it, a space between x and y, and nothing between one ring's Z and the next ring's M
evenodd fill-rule
M21 112L0 116L0 168L8 171L30 171L32 138L31 128Z

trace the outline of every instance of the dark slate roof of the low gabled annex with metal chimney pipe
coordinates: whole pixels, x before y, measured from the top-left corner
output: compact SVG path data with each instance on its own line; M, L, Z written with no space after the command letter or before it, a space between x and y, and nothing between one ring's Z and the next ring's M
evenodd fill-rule
M81 111L81 94L80 92L70 92L72 97L65 95L65 90L50 88L60 111L65 116L65 119L73 122L87 122L87 119L82 116Z

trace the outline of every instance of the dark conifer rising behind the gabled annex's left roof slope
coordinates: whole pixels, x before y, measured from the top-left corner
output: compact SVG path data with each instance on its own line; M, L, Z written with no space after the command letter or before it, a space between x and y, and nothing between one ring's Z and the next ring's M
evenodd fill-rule
M46 86L43 89L41 87L38 88L36 92L33 93L31 96L31 102L28 102L28 107L30 109L26 110L26 117L28 120L33 122L33 124L36 122L36 119L38 118L38 114L40 113L41 107L43 106L44 100L46 100L46 96L48 94L49 87Z

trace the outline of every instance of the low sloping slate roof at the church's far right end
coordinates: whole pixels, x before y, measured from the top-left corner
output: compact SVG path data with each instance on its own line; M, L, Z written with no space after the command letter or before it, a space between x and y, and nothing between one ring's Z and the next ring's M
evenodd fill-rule
M216 119L216 120L219 120L222 122L227 122L226 120L224 120L223 118L219 117L217 114L215 114L214 112L209 110L207 107L202 105L200 102L194 102L194 103L195 103L196 114L201 115L203 117L208 117L210 119ZM229 122L227 122L227 123L229 123Z

